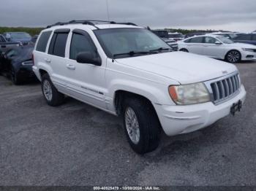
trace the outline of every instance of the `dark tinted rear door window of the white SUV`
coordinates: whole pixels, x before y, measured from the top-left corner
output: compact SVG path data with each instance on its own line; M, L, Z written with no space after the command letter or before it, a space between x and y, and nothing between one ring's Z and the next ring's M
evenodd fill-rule
M50 42L49 54L65 57L67 33L55 33Z

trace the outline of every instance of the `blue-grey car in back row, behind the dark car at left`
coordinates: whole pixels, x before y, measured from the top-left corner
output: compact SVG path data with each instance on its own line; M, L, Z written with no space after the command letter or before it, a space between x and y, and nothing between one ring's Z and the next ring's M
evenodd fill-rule
M4 33L4 37L8 42L20 42L23 45L28 45L31 42L31 36L26 32L8 32Z

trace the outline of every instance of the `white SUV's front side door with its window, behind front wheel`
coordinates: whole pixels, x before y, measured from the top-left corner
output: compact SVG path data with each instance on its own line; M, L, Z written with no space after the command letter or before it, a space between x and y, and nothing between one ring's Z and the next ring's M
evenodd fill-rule
M101 66L78 63L80 52L91 52L94 58L100 58L91 36L83 30L75 29L69 34L69 59L66 66L69 95L101 109L105 109L105 62Z

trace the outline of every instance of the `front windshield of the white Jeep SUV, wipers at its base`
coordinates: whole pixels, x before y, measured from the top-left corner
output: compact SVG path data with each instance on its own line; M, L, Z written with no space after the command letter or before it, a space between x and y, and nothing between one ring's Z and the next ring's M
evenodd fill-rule
M116 55L121 58L145 55L153 53L153 50L170 50L162 39L144 28L110 28L94 31L94 34L109 58L115 58ZM135 54L136 52L140 54Z

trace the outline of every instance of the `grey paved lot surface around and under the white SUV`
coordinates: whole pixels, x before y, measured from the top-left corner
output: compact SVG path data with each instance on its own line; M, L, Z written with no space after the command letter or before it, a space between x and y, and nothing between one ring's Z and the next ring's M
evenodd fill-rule
M235 117L130 149L121 120L68 98L53 108L40 86L0 77L1 185L256 185L256 63L237 65L247 90Z

